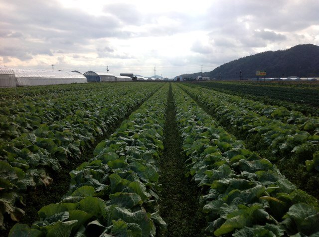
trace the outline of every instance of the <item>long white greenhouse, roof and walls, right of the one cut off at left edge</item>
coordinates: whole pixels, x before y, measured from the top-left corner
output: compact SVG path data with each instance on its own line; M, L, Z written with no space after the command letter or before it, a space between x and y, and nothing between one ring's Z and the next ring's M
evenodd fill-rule
M76 72L13 69L17 86L43 86L87 83L86 77Z

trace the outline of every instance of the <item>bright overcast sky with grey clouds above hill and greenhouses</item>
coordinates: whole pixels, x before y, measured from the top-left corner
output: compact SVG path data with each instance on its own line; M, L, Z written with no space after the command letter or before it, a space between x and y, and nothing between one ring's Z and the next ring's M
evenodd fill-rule
M0 65L82 73L211 71L319 45L319 0L0 0Z

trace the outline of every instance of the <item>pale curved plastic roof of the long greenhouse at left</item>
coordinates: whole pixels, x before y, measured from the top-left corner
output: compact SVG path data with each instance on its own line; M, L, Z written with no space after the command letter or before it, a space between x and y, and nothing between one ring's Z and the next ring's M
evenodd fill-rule
M12 69L15 77L86 78L76 72Z

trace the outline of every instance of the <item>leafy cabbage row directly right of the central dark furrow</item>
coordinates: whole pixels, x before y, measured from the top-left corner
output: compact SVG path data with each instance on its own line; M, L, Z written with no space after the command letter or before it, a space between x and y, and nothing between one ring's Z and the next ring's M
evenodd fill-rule
M185 92L173 87L189 173L201 187L209 235L318 236L319 204L269 160L247 150Z

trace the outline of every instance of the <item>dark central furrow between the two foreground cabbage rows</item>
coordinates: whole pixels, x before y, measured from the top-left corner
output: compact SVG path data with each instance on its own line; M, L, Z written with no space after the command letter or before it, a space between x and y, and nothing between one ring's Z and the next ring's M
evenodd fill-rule
M203 236L206 221L199 210L200 191L189 177L185 177L185 156L181 154L181 138L175 122L171 88L163 130L164 150L160 157L160 216L166 222L167 230L158 236Z

